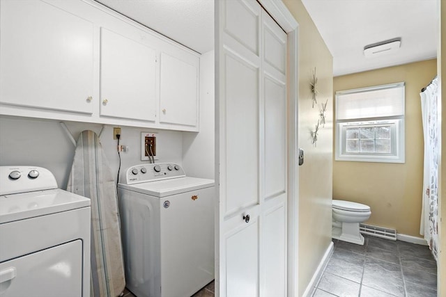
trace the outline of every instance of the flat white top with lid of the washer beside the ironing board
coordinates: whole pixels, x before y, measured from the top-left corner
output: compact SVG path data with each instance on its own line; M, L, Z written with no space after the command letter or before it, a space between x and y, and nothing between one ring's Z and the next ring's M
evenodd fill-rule
M200 188L210 188L214 186L213 179L202 179L198 177L178 177L174 179L164 179L155 182L143 182L140 184L119 184L119 188L129 191L152 195L158 198L198 190Z

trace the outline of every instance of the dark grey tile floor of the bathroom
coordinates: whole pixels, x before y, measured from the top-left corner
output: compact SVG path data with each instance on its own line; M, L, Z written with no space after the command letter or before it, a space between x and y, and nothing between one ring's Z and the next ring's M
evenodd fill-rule
M364 246L333 240L314 297L437 296L437 266L427 246L364 237Z

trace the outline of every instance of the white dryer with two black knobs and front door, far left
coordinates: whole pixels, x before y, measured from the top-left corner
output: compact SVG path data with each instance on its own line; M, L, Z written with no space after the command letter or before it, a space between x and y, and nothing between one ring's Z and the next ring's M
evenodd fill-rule
M90 296L90 200L45 168L0 166L0 296Z

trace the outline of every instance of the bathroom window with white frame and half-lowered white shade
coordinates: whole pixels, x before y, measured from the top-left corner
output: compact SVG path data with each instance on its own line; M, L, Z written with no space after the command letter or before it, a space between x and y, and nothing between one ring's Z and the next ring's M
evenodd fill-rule
M336 93L337 161L404 163L404 83Z

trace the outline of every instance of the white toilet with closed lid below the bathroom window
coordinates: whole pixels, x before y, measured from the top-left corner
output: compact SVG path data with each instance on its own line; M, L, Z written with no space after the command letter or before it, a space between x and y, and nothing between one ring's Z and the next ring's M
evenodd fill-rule
M332 214L332 238L363 246L360 223L370 218L370 207L351 201L333 200Z

